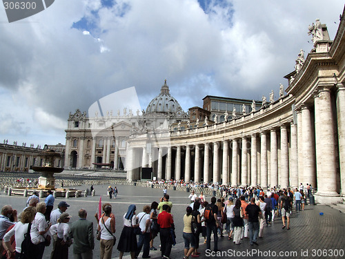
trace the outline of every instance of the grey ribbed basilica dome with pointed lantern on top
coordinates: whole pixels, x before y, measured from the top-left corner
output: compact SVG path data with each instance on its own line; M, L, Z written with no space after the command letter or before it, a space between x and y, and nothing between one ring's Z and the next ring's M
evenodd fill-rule
M177 116L184 114L179 102L170 95L166 80L164 85L161 86L161 93L148 104L146 113L174 113Z

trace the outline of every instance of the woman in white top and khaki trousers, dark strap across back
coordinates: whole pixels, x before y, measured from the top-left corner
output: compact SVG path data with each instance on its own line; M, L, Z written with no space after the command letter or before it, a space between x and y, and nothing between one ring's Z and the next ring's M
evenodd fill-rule
M111 213L110 204L103 207L103 212L98 224L98 231L101 231L101 240L99 241L100 257L101 259L110 259L114 244L115 216Z

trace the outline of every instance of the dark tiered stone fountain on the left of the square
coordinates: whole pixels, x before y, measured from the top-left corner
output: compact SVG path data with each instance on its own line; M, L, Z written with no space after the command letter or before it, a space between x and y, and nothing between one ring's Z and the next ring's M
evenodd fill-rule
M52 149L42 152L42 166L32 166L32 170L41 173L39 177L38 189L55 190L55 173L61 173L63 168L55 167L55 159L61 158L61 155Z

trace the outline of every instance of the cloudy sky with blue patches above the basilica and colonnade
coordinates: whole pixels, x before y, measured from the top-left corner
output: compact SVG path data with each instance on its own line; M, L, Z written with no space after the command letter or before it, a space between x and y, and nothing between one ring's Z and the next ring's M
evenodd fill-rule
M333 39L343 1L57 0L8 23L0 7L0 142L65 143L68 113L135 86L142 108L167 79L184 111L206 95L260 100ZM309 42L308 42L309 41Z

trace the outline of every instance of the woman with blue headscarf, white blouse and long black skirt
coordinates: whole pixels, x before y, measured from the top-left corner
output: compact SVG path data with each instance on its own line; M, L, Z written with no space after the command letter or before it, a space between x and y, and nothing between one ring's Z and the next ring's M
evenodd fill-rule
M131 204L128 211L124 214L124 228L122 229L117 250L120 251L119 258L122 259L124 253L130 253L130 258L135 258L135 251L137 251L137 236L134 233L134 228L139 227L137 223L137 215L135 215L137 207Z

